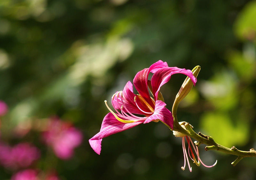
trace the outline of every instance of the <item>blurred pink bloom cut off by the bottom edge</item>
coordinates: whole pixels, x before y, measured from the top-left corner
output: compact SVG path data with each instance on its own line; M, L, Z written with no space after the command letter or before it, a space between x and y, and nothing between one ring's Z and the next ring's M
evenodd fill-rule
M40 180L37 174L38 171L34 169L25 169L14 174L11 180Z

